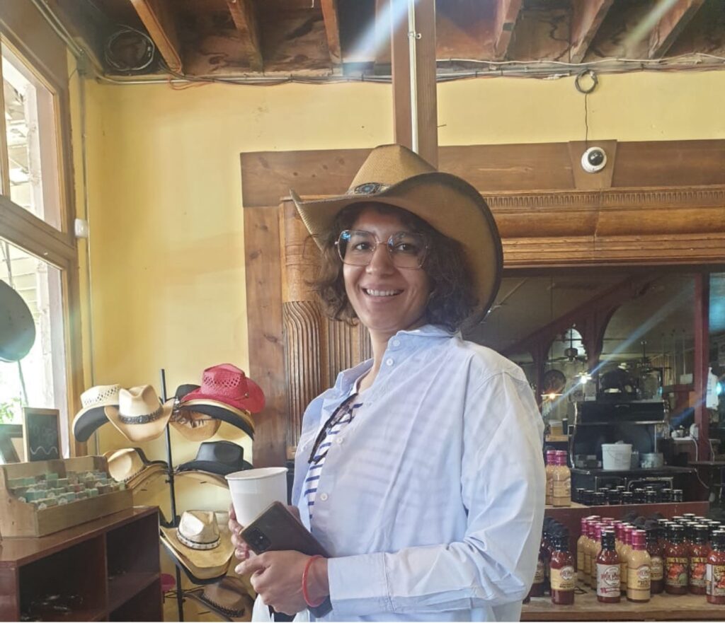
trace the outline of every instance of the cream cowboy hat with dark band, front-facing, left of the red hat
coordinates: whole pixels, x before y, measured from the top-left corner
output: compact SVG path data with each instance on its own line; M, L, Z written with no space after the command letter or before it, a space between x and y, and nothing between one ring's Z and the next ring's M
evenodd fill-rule
M128 440L150 441L159 437L171 417L172 406L159 402L151 385L118 392L118 406L104 408L106 417Z

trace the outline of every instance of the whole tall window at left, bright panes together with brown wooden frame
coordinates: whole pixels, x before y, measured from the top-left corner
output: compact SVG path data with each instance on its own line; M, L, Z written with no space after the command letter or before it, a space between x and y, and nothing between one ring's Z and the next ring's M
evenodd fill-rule
M36 341L21 361L0 362L0 424L22 422L22 406L59 409L62 451L70 456L80 323L78 248L65 226L72 210L67 214L63 199L70 184L61 148L69 133L59 120L67 118L61 114L67 111L67 85L44 80L2 34L0 279L28 304Z

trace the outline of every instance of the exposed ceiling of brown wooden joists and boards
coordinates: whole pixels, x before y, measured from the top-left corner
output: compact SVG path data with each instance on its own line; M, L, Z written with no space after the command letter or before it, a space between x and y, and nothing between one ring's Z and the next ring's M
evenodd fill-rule
M407 0L44 1L108 75L376 79L390 74L391 22L407 20ZM568 75L582 67L703 69L725 61L722 0L435 2L439 79ZM147 35L153 49L124 27Z

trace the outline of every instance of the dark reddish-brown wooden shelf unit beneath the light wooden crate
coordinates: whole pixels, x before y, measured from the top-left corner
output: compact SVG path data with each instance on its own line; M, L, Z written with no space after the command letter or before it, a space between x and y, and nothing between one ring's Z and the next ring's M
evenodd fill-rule
M43 595L78 595L57 621L161 621L157 507L138 507L0 547L0 621L18 621Z

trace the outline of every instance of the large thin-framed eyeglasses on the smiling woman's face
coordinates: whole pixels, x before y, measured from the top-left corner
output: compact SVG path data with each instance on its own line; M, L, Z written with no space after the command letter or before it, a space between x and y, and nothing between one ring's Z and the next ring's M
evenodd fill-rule
M381 242L376 235L363 230L344 230L335 246L344 264L367 266L378 245L384 244L393 265L397 268L419 269L428 254L428 242L418 233L398 232Z

